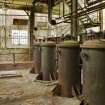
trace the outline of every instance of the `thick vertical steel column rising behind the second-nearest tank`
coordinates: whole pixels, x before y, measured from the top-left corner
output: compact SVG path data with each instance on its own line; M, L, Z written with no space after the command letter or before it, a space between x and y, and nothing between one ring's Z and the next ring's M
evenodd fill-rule
M71 0L71 35L74 37L78 35L77 4L78 0Z

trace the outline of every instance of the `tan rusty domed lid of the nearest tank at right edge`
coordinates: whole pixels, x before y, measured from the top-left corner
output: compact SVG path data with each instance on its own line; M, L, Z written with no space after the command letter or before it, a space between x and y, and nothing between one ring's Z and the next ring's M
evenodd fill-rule
M82 48L105 48L105 39L88 40L81 45Z

